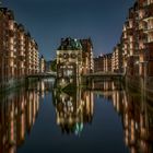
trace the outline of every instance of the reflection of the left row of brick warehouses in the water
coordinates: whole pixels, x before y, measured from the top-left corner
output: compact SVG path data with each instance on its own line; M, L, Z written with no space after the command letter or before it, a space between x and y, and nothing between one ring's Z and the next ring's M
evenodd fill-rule
M8 95L0 103L0 152L15 153L31 131L39 108L35 91Z

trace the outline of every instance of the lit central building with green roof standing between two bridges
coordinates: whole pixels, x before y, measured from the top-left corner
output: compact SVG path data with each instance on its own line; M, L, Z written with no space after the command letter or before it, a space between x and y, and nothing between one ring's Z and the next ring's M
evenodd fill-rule
M57 50L59 84L80 83L81 75L93 71L93 44L91 38L61 38L61 44Z

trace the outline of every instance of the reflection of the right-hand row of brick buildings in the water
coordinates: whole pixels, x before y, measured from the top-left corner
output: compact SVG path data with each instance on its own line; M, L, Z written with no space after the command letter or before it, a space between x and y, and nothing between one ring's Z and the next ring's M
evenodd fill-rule
M138 96L114 91L109 93L114 107L121 114L125 142L131 153L153 152L153 107ZM107 98L107 94L104 96Z

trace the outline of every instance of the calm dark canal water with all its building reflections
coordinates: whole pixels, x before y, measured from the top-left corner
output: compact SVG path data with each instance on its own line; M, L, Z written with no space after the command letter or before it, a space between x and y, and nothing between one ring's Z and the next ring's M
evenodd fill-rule
M0 97L0 153L152 153L153 103L119 82L44 80Z

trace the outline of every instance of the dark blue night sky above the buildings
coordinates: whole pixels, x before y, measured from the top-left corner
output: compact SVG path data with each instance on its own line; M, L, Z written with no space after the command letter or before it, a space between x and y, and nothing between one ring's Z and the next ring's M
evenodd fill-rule
M91 37L94 55L111 52L133 0L3 0L52 59L61 37Z

